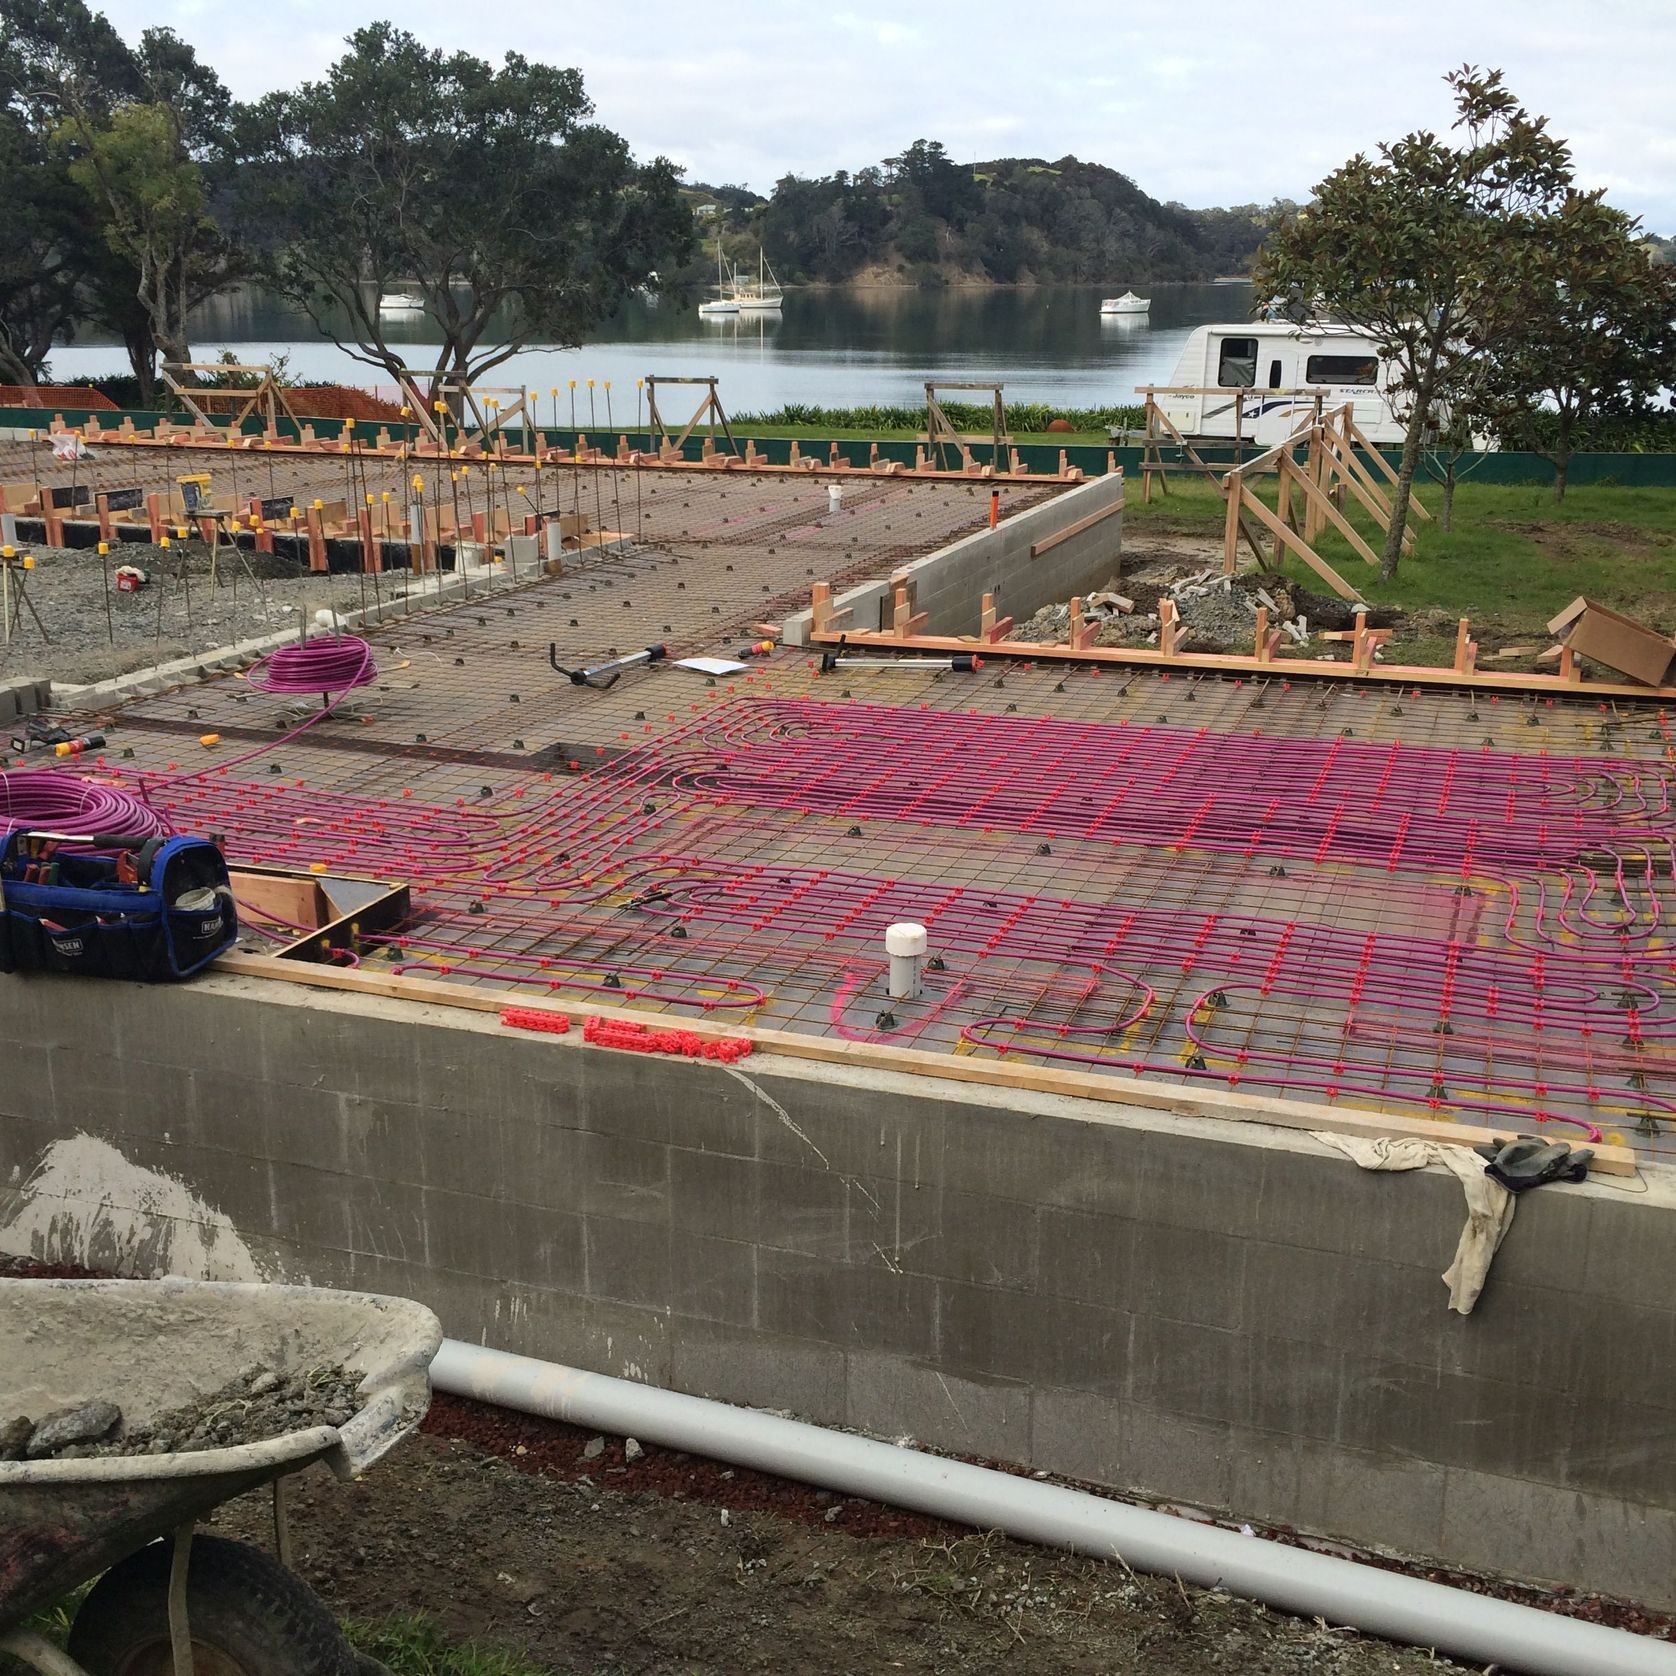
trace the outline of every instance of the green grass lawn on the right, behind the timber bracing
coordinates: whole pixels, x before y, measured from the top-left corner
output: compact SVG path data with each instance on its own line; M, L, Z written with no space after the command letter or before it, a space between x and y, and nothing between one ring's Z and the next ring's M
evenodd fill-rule
M1272 483L1260 493L1272 506ZM1530 640L1539 649L1549 644L1549 618L1579 593L1661 632L1676 628L1676 491L1582 486L1555 503L1547 488L1465 483L1455 491L1448 533L1435 521L1441 491L1425 484L1418 498L1433 521L1413 521L1413 551L1391 582L1381 582L1337 531L1326 531L1316 543L1369 603L1466 617L1475 632L1483 630L1485 644ZM1379 551L1383 536L1373 521L1354 503L1349 516ZM1151 506L1143 506L1136 484L1123 518L1126 545L1143 545L1148 535L1218 538L1222 496L1207 483L1175 478L1168 498L1155 493ZM1287 556L1280 568L1304 587L1324 590L1297 558ZM1421 628L1420 639L1441 639L1448 647L1441 657L1418 660L1448 662L1453 632L1441 634L1438 623L1415 627ZM1411 637L1401 639L1404 655L1421 650Z

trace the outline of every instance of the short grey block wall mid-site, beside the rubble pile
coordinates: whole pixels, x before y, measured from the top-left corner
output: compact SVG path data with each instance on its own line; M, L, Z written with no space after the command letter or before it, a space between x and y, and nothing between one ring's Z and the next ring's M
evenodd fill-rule
M1123 553L1123 513L1111 513L1088 530L1059 541L1036 558L1031 546L1091 513L1123 504L1123 474L1111 473L1053 496L1041 506L1007 518L994 530L950 541L895 575L905 577L915 612L925 612L927 634L977 634L984 595L996 597L996 610L1022 622L1044 605L1058 605L1074 593L1103 587L1118 573ZM848 607L848 628L873 632L888 627L893 587L890 580L863 582L835 597ZM882 615L887 613L887 615ZM810 613L793 612L781 625L789 645L806 645Z

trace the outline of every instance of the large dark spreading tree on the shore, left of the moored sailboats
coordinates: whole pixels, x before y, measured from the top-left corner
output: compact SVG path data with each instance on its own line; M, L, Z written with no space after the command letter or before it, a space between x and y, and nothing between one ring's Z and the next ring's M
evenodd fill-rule
M379 295L417 288L434 379L478 380L530 342L580 344L692 246L674 164L637 164L592 109L577 70L372 23L325 80L241 112L240 225L355 359L404 370Z

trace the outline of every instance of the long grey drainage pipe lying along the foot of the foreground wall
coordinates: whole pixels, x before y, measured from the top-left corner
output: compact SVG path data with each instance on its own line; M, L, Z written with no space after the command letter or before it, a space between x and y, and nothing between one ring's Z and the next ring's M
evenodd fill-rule
M1530 1676L1676 1676L1676 1646L989 1466L444 1339L431 1383L525 1415L910 1507Z

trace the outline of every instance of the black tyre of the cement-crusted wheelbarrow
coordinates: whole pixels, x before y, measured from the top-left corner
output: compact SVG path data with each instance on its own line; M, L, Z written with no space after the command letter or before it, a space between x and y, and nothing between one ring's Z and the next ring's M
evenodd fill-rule
M153 1542L94 1584L70 1626L69 1653L89 1676L169 1676L169 1560ZM325 1602L245 1542L194 1537L186 1574L193 1648L238 1676L354 1676L355 1654ZM199 1664L199 1669L203 1664Z

